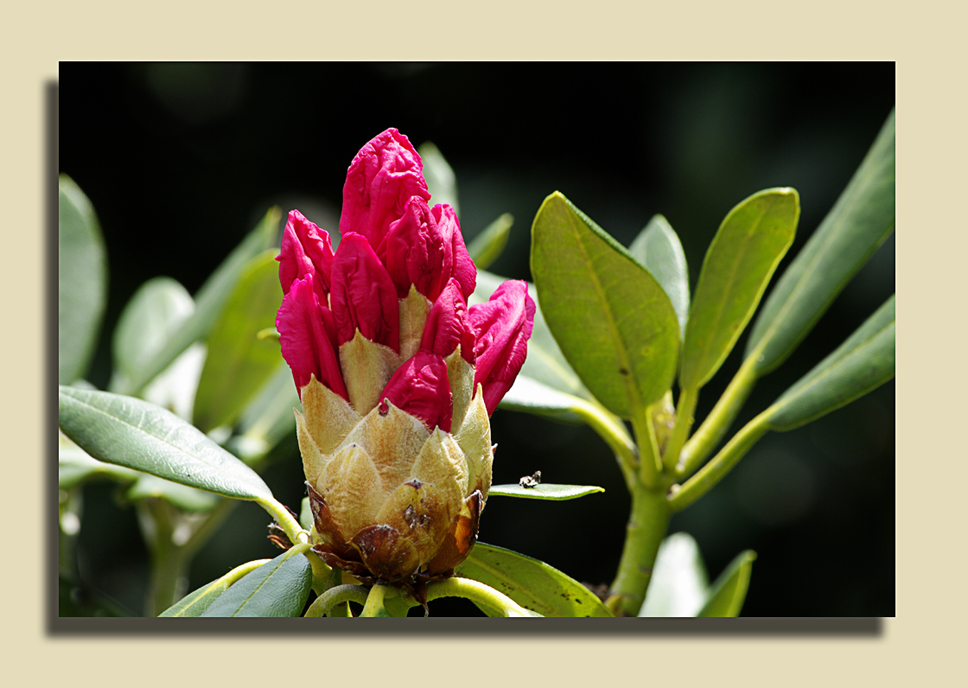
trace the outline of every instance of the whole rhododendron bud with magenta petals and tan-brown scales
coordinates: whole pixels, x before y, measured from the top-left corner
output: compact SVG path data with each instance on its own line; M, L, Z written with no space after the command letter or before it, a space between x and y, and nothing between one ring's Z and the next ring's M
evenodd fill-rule
M427 204L420 156L395 129L356 156L342 240L297 211L276 318L299 388L313 551L363 582L453 574L491 486L489 416L534 320L524 282L468 308L477 269L453 208Z

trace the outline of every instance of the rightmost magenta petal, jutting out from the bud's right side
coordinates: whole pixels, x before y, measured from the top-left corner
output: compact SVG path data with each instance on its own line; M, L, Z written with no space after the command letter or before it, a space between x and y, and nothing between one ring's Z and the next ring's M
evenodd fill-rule
M477 335L474 386L483 385L488 414L494 413L524 365L534 312L528 284L521 280L505 282L487 303L468 311Z

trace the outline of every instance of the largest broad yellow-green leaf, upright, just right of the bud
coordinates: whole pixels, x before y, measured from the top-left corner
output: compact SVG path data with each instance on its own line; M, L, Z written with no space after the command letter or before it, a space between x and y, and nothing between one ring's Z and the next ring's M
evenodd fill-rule
M628 251L555 192L534 220L531 273L565 358L612 413L631 417L672 384L676 312Z

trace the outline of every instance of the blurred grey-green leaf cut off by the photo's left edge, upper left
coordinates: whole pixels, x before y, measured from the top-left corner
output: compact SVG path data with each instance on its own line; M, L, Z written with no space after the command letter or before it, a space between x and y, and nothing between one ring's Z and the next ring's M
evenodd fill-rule
M94 208L70 177L58 179L57 380L86 373L107 298L107 258Z

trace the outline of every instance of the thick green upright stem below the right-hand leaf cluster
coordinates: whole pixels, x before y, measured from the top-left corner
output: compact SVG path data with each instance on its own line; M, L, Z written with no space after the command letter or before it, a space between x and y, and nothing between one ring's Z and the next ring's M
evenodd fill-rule
M640 485L632 491L625 546L612 583L612 595L606 603L616 616L638 616L670 515L664 490L648 490Z

